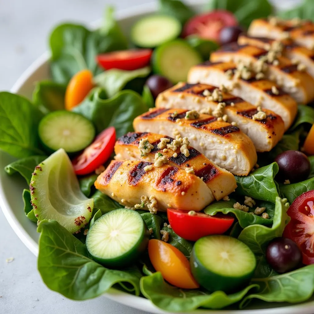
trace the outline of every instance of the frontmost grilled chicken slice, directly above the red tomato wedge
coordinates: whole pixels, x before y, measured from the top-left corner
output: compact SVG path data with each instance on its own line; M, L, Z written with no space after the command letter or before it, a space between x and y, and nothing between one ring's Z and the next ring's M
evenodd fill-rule
M161 211L168 207L200 211L214 200L212 192L198 176L170 165L153 165L152 170L145 171L150 165L153 164L113 160L98 176L95 187L127 207L141 204L143 195L154 196Z

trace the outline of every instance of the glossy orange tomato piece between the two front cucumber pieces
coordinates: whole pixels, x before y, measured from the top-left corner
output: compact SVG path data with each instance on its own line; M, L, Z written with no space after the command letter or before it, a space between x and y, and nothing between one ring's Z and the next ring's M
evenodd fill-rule
M161 240L149 240L148 254L156 271L170 284L183 289L197 289L190 263L176 247Z

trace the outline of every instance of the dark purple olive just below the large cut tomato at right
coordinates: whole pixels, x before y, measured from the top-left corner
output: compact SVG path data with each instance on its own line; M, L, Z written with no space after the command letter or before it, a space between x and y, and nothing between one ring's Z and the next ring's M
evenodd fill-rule
M300 266L302 253L288 238L275 238L266 249L266 260L277 273L286 273Z

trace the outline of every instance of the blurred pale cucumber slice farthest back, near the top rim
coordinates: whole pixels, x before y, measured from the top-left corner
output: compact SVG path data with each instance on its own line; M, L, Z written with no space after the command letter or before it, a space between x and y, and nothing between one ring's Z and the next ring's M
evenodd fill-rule
M149 15L132 27L131 39L136 46L154 48L181 34L180 22L168 15Z

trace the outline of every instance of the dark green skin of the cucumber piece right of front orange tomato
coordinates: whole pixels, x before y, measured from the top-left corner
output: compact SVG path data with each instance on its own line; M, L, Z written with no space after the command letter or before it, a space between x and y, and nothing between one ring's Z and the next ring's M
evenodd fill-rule
M195 253L195 245L193 246L190 257L190 265L192 275L195 280L209 292L219 290L226 293L234 292L238 290L238 288L246 286L250 282L250 279L253 277L255 271L255 268L253 268L251 273L242 277L223 276L221 274L211 272L199 261Z

